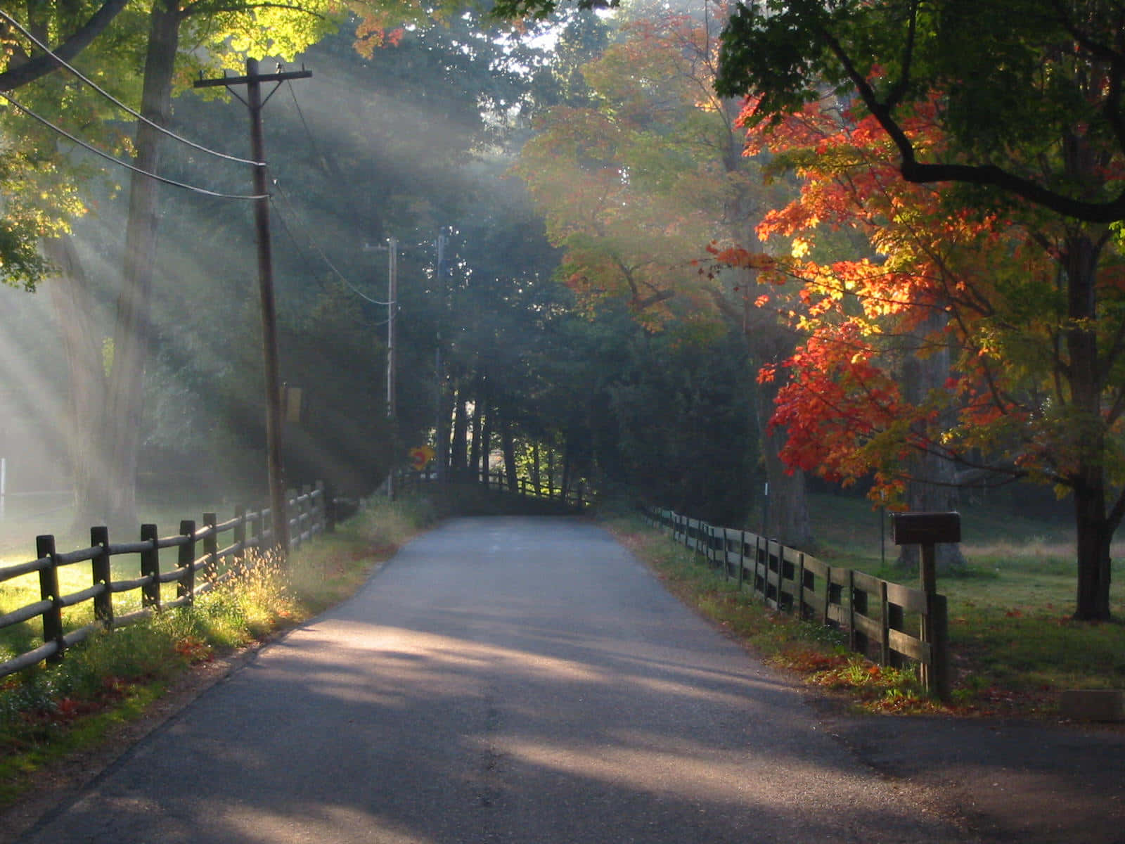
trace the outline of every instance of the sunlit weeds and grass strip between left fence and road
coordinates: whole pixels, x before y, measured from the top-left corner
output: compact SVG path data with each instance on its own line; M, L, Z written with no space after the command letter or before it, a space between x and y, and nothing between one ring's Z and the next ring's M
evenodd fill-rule
M94 631L62 662L0 680L0 809L33 812L56 781L81 784L73 780L91 773L90 758L108 762L177 700L225 675L240 654L350 596L432 520L424 501L374 502L295 549L285 566L264 555L190 604L165 604L111 634ZM3 586L0 610L22 600ZM0 657L37 632L0 640Z

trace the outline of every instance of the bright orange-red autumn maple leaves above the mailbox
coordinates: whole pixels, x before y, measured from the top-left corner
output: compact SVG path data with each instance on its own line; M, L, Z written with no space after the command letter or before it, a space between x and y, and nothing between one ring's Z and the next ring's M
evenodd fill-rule
M908 132L920 150L944 152L935 110L924 104ZM712 253L758 270L763 291L749 298L803 338L759 374L782 384L772 424L786 432L783 459L845 483L873 479L872 497L891 502L917 452L1009 477L1064 475L1062 226L906 182L875 122L831 100L752 129L747 153L764 151L799 190L757 226L770 254ZM1119 261L1100 277L1119 293ZM935 356L950 361L942 378L904 386L909 361Z

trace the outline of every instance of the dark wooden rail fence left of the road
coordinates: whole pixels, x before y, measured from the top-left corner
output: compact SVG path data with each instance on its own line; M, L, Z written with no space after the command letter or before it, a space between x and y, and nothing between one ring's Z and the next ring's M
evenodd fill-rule
M324 486L305 488L299 495L290 493L288 500L289 545L296 548L321 533L326 526ZM273 513L269 508L246 512L236 508L233 519L219 522L215 513L204 513L202 526L195 520L180 522L178 533L161 538L155 524L141 526L136 542L112 544L104 527L90 528L90 547L73 551L58 551L53 536L36 539L36 559L0 568L0 583L15 577L38 573L39 600L35 603L0 616L0 630L30 621L43 621L43 645L0 663L0 677L24 671L46 659L58 662L66 649L99 630L114 630L147 618L153 612L191 604L204 594L242 571L246 551L269 548L273 537ZM219 547L219 538L230 533L231 542ZM160 551L176 548L176 565L161 567ZM200 554L200 550L202 554ZM114 557L136 555L140 558L140 577L114 580L110 562ZM92 585L70 594L61 594L58 569L81 563L90 564ZM197 576L198 575L198 576ZM176 599L164 601L161 586L176 583ZM141 609L117 614L114 595L141 591ZM74 630L64 630L63 610L91 602L93 620Z

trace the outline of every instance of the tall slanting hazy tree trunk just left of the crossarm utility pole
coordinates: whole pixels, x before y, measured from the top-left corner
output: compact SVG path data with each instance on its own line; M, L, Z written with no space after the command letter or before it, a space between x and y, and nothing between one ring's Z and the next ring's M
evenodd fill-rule
M168 118L172 71L179 46L180 12L173 0L153 3L145 56L141 114L158 125ZM160 133L137 124L134 164L156 172ZM114 362L107 399L109 455L105 482L115 522L136 521L137 454L143 434L143 380L152 338L150 299L156 251L158 183L137 173L129 181L129 212L125 226L125 266L117 299Z

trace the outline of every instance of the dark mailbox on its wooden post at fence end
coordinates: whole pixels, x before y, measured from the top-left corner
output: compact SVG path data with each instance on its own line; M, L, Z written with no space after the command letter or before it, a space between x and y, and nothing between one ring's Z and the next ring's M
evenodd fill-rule
M930 662L922 664L926 688L945 700L950 697L948 620L945 595L937 594L937 564L934 546L938 542L961 541L961 514L896 513L892 517L896 545L921 546L919 576L926 593L926 618L921 625L921 639L930 646Z

